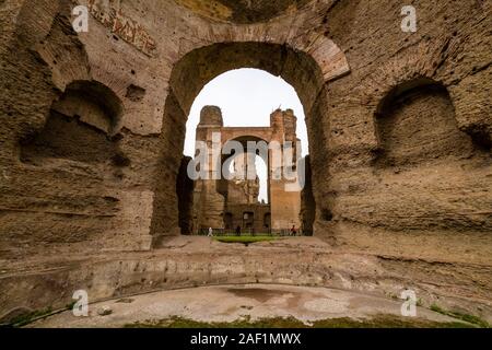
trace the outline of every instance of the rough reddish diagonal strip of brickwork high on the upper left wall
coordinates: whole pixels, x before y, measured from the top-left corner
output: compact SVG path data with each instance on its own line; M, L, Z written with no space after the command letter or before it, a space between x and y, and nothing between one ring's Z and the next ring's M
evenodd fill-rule
M89 11L103 25L148 56L154 56L156 43L137 21L121 11L120 0L89 0Z

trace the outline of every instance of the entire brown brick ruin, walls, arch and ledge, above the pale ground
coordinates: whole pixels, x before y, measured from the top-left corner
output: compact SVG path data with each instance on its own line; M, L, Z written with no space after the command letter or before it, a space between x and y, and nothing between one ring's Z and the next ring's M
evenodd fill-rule
M1 322L231 283L410 289L491 322L491 27L480 0L0 0ZM302 192L184 176L191 104L237 68L295 88ZM198 138L295 140L293 118L245 132L210 107ZM292 224L313 236L195 234Z

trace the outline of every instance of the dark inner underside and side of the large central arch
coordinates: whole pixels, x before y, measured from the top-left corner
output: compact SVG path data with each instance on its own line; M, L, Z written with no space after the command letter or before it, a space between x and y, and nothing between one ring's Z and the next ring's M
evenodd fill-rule
M169 81L169 94L166 100L163 133L162 162L156 177L156 190L154 195L154 211L151 233L155 236L178 234L177 228L178 208L172 206L173 196L176 192L171 188L171 182L162 182L162 174L169 174L171 178L177 178L181 156L177 151L183 150L186 119L192 103L202 88L215 77L234 69L256 68L267 71L276 77L282 77L298 94L305 112L307 136L309 138L308 153L312 156L312 173L321 174L327 171L325 129L327 118L326 94L324 93L325 80L317 62L308 55L296 51L285 45L266 43L229 43L214 44L196 49L179 60L172 72ZM171 127L172 126L172 127ZM307 149L307 148L306 148ZM316 175L313 175L315 177ZM318 178L323 178L319 175ZM317 183L313 182L316 188ZM198 189L200 190L200 189ZM314 189L314 194L317 191ZM223 205L218 197L216 207L210 208L211 217L218 211L222 212L220 222L223 224ZM313 201L315 202L315 200ZM289 209L289 200L278 211ZM297 210L301 212L301 205ZM265 214L265 213L263 213ZM260 218L262 225L263 214ZM271 210L272 225L276 210ZM285 220L285 228L292 226ZM197 228L195 228L197 229Z

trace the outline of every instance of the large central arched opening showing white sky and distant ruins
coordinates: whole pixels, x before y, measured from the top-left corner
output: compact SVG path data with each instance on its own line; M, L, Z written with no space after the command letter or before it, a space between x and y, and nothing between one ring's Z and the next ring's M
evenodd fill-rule
M185 154L200 153L200 142L213 144L216 142L214 135L221 141L220 147L226 148L227 143L237 142L243 151L241 154L221 156L221 167L229 165L227 172L235 174L232 179L225 179L226 174L221 174L216 183L201 179L200 184L196 183L195 222L191 224L196 233L207 232L209 228L218 231L225 229L223 212L226 211L241 218L245 210L249 210L257 219L254 222L238 220L234 226L255 233L302 226L300 196L283 194L286 189L281 184L274 186L272 182L271 152L267 149L261 154L257 149L249 153L248 147L250 143L268 148L270 142L279 145L292 142L293 159L296 160L296 156L305 155L308 148L304 119L303 105L294 88L280 77L262 70L232 70L216 77L201 90L188 118ZM296 165L293 164L293 167ZM283 212L279 209L280 201L288 206ZM291 212L286 214L289 210ZM261 218L271 211L272 220L266 228Z

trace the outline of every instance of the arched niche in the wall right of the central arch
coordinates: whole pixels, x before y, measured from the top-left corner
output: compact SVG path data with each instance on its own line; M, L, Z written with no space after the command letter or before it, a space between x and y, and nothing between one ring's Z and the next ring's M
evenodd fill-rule
M446 88L429 79L394 89L377 109L376 125L380 166L468 159L477 150L470 136L458 129Z

